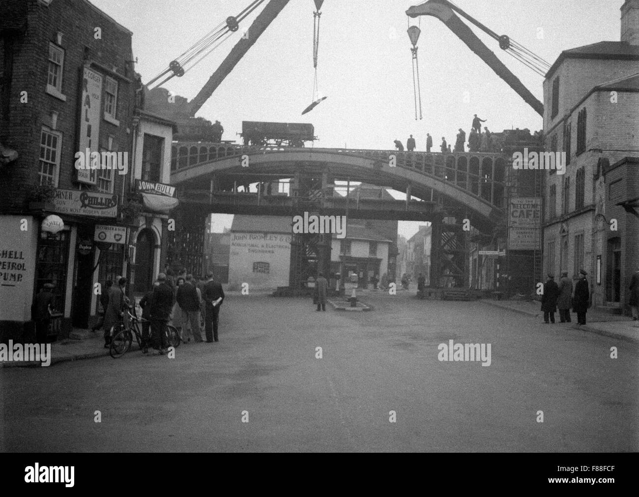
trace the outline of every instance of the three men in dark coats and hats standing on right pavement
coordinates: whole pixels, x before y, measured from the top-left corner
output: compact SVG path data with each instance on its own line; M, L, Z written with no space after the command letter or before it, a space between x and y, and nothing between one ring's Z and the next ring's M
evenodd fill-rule
M579 280L574 286L568 277L568 271L562 272L560 283L555 283L555 276L548 274L541 297L541 310L544 311L544 323L555 324L555 312L559 309L560 323L571 323L570 309L577 314L578 325L586 324L586 312L590 307L590 290L583 269L579 271Z

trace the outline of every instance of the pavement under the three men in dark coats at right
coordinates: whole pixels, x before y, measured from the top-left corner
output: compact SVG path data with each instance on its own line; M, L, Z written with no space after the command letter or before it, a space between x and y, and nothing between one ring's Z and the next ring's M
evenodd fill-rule
M532 300L481 300L486 305L512 310L526 316L538 317L543 321L544 313L541 303ZM578 329L581 332L597 333L608 337L639 343L639 321L632 321L627 316L610 314L602 310L589 309L586 313L586 324L576 324L577 315L571 313L571 323L559 323L559 313L555 312L555 326ZM553 326L553 325L548 325Z

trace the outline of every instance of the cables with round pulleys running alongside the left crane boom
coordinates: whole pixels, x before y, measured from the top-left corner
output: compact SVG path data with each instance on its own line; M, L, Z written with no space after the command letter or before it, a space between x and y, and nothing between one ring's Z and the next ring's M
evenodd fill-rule
M158 88L158 86L162 86L168 80L172 79L174 76L181 77L185 75L185 73L189 72L194 66L200 63L208 54L210 54L213 50L217 49L223 42L225 42L229 36L237 31L238 24L242 22L242 20L246 19L256 8L258 8L262 3L266 0L254 0L249 4L246 8L244 8L237 16L229 17L226 21L220 22L217 26L215 26L212 31L205 34L203 38L197 41L194 45L192 45L189 49L187 49L183 54L174 59L173 62L169 65L169 67L159 73L155 78L151 79L150 82L146 84L147 87L150 87L151 84L156 82L158 79L163 77L169 72L173 72L169 77L162 80L159 84L157 84L154 88ZM235 27L235 29L233 29ZM220 39L224 38L220 43L213 46L215 42L218 42ZM211 48L212 47L212 48ZM208 50L208 51L206 51ZM206 53L204 53L206 52ZM193 59L195 59L200 54L204 55L197 59L189 68L185 69L185 66L189 65Z

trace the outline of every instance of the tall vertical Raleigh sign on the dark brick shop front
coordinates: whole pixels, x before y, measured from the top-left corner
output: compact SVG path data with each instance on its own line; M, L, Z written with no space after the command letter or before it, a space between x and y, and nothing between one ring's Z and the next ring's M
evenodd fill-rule
M102 109L102 75L84 68L82 75L82 100L80 102L80 133L78 150L98 152L98 136L100 134L100 110ZM80 183L95 185L97 172L95 169L77 169L77 180Z

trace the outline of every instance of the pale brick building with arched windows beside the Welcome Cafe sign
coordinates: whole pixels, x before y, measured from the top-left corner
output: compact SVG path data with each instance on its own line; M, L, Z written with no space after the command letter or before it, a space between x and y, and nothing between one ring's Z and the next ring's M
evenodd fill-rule
M639 265L639 0L621 13L620 42L566 50L544 80L546 150L568 165L546 178L543 237L546 271L583 268L593 305L623 309Z

